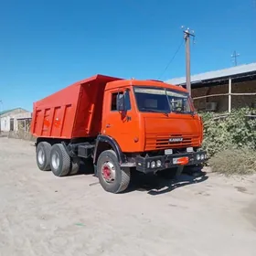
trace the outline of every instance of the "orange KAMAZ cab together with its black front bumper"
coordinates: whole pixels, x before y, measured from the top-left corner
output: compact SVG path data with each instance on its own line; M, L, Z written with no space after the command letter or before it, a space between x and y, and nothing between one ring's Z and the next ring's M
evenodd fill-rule
M101 136L115 144L121 168L145 174L165 169L181 173L185 165L198 165L207 158L200 150L202 121L187 90L160 81L108 83ZM98 155L96 151L95 163ZM100 165L97 170L101 171Z

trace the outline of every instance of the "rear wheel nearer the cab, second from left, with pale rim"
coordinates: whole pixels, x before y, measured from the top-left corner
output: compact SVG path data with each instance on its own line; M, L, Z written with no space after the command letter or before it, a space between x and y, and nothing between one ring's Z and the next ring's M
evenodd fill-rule
M55 176L68 176L72 162L63 144L54 144L50 150L50 168Z

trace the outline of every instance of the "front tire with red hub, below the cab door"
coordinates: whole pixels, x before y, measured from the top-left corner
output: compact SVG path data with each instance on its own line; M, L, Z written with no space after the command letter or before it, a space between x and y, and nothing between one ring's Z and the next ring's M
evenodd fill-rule
M103 168L114 170L114 178L112 181L106 181L103 175ZM112 168L110 167L112 166ZM97 161L97 176L99 177L101 187L107 192L117 194L123 192L130 183L131 172L130 168L121 168L117 156L114 151L103 151Z

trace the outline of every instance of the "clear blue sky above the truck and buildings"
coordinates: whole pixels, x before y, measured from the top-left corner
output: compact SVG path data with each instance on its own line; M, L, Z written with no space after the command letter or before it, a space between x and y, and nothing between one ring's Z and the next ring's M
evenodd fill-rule
M192 74L256 61L255 0L0 1L0 100L4 110L101 73L159 79L182 40L196 33ZM161 80L185 75L180 48ZM0 106L1 107L1 106Z

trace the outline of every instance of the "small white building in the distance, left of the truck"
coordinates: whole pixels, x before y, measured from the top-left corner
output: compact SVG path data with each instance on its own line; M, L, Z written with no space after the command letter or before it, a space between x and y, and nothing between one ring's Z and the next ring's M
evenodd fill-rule
M0 112L0 131L17 131L20 120L31 120L31 112L22 108Z

